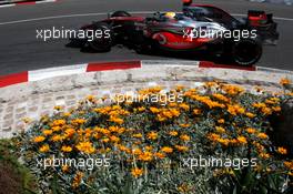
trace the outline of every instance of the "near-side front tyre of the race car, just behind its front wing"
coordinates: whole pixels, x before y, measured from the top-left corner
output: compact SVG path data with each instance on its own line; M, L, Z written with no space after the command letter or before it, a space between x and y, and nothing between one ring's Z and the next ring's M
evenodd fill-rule
M93 40L88 40L89 48L95 52L109 52L113 44L112 29L105 22L98 22L94 24L94 31L98 30L102 32L102 35L93 35Z

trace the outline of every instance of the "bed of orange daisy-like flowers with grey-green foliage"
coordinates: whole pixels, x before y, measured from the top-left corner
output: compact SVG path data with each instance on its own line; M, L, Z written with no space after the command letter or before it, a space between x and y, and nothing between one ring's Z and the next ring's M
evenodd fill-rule
M293 161L267 134L291 96L219 82L143 89L108 105L90 95L18 139L43 193L286 193Z

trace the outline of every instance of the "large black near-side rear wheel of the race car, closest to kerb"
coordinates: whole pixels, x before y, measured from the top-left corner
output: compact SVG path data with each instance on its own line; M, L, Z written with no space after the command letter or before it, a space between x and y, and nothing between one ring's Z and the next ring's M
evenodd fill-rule
M242 39L234 42L232 59L240 65L250 67L256 63L262 55L262 44L254 39Z

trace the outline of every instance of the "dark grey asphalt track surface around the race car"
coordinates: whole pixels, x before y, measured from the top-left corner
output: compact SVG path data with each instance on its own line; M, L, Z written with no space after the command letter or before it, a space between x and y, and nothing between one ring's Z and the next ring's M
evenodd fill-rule
M281 33L276 47L265 47L256 65L293 70L293 7L247 2L245 0L205 0L235 14L249 9L274 13ZM37 29L77 29L91 21L105 18L102 13L115 10L133 12L181 11L180 0L61 0L55 3L0 8L0 75L27 70L61 67L97 61L162 60L166 57L137 54L127 48L113 48L109 53L87 53L65 48L68 40L42 41ZM196 59L194 59L196 60Z

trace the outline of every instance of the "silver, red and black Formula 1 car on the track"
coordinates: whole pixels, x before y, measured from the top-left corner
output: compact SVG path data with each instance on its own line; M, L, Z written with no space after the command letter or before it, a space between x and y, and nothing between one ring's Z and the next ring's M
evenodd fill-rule
M274 32L262 30L264 25L270 25ZM183 13L155 12L150 17L133 17L117 11L80 29L104 35L70 40L71 44L97 52L108 52L114 44L123 44L138 53L165 51L195 55L203 52L240 65L252 65L262 55L262 43L277 39L275 29L272 17L261 11L249 11L249 19L244 22L219 8L185 1Z

